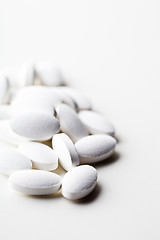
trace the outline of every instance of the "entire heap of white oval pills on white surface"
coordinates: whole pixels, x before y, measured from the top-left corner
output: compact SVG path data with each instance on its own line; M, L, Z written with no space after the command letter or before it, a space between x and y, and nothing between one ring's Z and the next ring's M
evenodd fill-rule
M77 200L95 188L97 170L90 164L113 154L115 129L82 93L62 85L51 63L2 71L0 140L14 148L0 148L0 173L9 176L15 191L48 195L61 190ZM59 165L63 176L54 173Z

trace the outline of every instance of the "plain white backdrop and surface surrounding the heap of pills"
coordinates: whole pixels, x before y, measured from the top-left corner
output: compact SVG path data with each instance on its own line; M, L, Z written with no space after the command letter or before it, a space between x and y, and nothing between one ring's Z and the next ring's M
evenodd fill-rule
M159 240L160 1L1 0L0 66L26 60L56 62L119 143L81 202L23 196L0 176L0 239Z

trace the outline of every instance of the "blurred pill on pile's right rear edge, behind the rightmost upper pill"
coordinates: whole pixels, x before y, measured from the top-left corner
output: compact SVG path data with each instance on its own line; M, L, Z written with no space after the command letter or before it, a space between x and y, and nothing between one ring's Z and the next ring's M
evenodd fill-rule
M76 103L77 110L91 109L91 102L88 98L81 92L71 88L71 87L60 87L61 92L67 93Z

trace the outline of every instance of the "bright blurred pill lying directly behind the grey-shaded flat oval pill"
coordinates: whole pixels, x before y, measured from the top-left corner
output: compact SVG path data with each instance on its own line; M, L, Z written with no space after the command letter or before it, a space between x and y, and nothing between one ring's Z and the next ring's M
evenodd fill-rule
M57 92L44 86L28 86L22 88L12 101L14 114L22 112L46 112L54 114L54 106L62 102Z

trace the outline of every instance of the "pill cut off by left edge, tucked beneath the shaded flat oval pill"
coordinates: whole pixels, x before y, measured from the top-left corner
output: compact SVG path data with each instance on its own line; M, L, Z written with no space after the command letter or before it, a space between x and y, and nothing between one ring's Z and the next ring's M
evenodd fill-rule
M21 137L11 129L10 123L10 120L0 121L0 140L12 145L28 142L29 140L27 138Z

